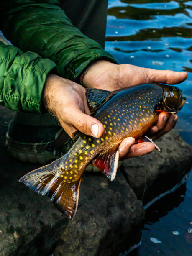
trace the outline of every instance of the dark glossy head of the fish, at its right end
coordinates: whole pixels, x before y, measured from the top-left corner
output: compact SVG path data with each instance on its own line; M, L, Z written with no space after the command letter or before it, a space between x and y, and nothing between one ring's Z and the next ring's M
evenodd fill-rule
M182 90L172 85L161 84L160 86L163 90L163 95L158 109L168 113L179 112L186 102L186 97L183 97Z

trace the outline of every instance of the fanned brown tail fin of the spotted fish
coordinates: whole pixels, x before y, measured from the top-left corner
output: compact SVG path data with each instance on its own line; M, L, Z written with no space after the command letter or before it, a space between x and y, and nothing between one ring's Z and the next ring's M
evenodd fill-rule
M54 206L72 220L77 211L81 177L70 183L64 182L61 160L27 173L19 182L41 195L50 197Z

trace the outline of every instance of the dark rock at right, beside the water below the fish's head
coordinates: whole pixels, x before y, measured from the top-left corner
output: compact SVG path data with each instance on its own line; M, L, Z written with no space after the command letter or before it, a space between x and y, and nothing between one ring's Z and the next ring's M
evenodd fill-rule
M121 171L138 199L146 205L181 182L192 166L192 146L172 130L156 141L161 151L127 159Z

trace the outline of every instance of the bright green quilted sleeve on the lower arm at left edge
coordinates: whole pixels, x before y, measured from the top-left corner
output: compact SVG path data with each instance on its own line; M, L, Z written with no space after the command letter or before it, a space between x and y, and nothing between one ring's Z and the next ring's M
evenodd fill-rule
M0 104L11 110L44 113L41 95L54 67L49 59L0 42Z

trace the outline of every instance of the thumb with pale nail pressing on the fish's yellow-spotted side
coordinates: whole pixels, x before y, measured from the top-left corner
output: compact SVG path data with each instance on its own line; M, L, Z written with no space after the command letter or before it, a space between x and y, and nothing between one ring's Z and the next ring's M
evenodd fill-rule
M84 114L76 106L72 106L68 112L69 115L67 116L66 123L74 126L82 133L91 135L95 138L100 138L104 133L105 128L99 120L90 115Z

